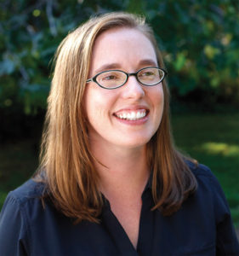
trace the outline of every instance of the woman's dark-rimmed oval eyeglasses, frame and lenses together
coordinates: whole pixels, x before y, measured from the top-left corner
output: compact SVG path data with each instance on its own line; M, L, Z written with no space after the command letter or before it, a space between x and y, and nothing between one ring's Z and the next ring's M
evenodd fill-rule
M134 76L140 84L153 86L162 82L167 72L160 67L144 67L136 73L126 73L122 70L107 70L88 79L87 83L94 82L108 90L117 89L126 84L129 76Z

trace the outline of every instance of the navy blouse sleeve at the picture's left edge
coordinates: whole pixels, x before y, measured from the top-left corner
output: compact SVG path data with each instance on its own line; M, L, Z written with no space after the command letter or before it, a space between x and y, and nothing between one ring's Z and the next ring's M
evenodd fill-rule
M26 224L20 203L9 193L0 213L0 252L2 256L29 255L26 252Z

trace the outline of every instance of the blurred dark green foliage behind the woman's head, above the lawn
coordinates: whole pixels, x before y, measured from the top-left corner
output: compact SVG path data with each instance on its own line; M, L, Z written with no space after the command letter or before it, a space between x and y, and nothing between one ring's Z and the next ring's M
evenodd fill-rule
M145 15L156 32L179 103L174 108L184 102L207 111L238 108L237 0L9 0L0 3L0 113L45 109L60 41L91 15L116 10Z

